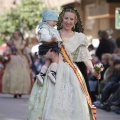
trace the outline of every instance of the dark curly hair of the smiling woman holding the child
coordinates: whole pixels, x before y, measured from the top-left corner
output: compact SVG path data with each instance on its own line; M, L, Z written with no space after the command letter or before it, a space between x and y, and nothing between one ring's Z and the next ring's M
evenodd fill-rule
M62 24L62 19L63 19L65 12L71 12L71 13L74 13L76 15L77 23L75 24L75 27L72 28L72 30L75 32L83 32L84 29L82 27L82 21L81 21L80 15L79 15L78 11L75 10L72 6L64 7L62 12L59 14L57 29L58 30L62 29L61 24Z

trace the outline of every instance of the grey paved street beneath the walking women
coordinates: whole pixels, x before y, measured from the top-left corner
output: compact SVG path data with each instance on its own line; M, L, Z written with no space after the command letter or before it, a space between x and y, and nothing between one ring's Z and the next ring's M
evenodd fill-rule
M0 94L0 120L26 120L29 95L14 99L12 95ZM97 110L97 120L120 120L120 115Z

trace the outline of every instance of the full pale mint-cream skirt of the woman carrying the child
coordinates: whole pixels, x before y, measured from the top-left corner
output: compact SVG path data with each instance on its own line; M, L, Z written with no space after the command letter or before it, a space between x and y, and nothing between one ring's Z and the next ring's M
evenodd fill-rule
M47 76L42 87L37 81L34 83L27 120L92 120L86 96L73 69L60 61L56 77L55 85Z

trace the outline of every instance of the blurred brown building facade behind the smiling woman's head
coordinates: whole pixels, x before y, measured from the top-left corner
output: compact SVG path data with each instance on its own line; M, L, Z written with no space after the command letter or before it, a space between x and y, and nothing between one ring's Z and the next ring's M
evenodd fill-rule
M119 0L46 0L50 7L73 5L80 13L84 33L89 38L98 38L99 30L113 30L113 38L120 37L115 28L115 9L120 8Z

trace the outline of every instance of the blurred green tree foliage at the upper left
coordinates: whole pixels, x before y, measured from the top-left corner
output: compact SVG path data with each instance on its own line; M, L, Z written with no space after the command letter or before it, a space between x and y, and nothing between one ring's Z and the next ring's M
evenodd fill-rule
M42 0L23 0L22 4L0 16L0 33L11 34L15 29L31 31L41 21L40 13L46 9Z

